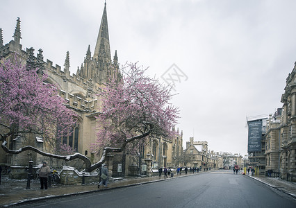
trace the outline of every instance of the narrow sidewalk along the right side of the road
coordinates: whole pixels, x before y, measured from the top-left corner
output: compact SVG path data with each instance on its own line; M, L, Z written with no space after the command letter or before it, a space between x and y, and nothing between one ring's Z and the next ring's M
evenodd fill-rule
M292 196L293 198L296 198L296 182L288 182L286 180L280 179L279 177L266 177L264 175L251 174L246 175L252 177L254 180L263 182L274 189L288 193L288 195Z

